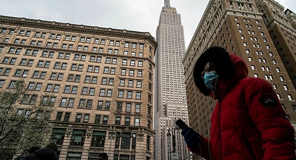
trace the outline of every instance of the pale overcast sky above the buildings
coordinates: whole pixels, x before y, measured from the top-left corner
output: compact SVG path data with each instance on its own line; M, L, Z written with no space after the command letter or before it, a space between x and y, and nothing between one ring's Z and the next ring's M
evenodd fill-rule
M296 13L296 0L276 0ZM209 0L170 0L181 14L186 48ZM164 0L0 0L0 15L149 32Z

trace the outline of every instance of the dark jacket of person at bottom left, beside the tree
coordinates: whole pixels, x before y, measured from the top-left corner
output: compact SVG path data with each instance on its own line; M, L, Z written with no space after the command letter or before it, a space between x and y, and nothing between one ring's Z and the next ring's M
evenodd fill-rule
M25 160L59 160L58 155L51 149L43 148L26 156Z

